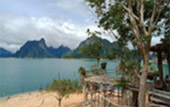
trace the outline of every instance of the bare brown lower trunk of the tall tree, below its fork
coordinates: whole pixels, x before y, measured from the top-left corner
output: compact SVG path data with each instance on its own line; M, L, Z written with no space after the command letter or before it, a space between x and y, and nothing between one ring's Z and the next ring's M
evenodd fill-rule
M139 107L146 107L145 100L146 100L146 80L149 68L149 52L146 52L143 56L144 65L142 70L142 76L140 78L140 85L139 85L139 95L138 95L138 102Z

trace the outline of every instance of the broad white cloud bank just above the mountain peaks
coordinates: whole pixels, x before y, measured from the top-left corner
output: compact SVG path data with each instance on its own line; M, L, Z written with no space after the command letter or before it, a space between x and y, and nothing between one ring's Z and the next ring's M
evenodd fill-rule
M82 26L67 20L49 17L19 17L0 15L0 47L12 52L18 50L28 40L45 38L48 46L65 45L74 49L88 36L87 28L98 29L95 25Z

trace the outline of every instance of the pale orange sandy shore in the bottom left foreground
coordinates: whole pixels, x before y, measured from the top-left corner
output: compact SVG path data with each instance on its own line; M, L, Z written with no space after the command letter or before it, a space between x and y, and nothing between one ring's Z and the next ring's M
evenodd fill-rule
M56 93L31 92L0 100L0 107L58 107ZM62 100L62 107L78 107L83 102L83 94L71 94Z

